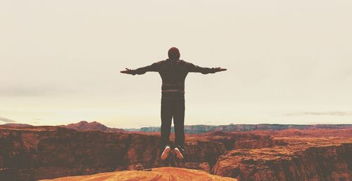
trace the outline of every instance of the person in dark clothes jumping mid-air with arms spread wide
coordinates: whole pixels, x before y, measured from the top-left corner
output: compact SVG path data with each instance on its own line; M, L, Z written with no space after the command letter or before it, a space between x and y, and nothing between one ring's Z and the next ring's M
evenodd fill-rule
M180 51L172 47L168 51L168 59L155 62L152 65L139 69L122 70L123 74L145 74L146 72L158 72L162 79L161 86L161 159L168 158L170 151L170 130L172 118L175 127L175 148L173 151L179 159L184 155L184 79L189 72L213 74L225 71L221 67L199 67L190 62L180 60Z

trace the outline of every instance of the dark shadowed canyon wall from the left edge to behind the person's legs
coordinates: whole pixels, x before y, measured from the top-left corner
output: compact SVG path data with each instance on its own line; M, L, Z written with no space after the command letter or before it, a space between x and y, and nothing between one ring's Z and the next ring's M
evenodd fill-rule
M0 177L38 180L114 170L170 166L161 161L159 135L77 131L61 127L0 128ZM208 173L225 145L200 136L187 140L185 159L175 166Z

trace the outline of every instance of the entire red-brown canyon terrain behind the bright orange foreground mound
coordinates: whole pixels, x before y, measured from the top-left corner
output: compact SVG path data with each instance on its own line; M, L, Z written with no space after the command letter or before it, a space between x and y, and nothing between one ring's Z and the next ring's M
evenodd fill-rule
M183 161L161 161L158 133L0 126L0 180L134 170L138 163L237 180L351 180L351 135L352 129L215 131L187 135Z

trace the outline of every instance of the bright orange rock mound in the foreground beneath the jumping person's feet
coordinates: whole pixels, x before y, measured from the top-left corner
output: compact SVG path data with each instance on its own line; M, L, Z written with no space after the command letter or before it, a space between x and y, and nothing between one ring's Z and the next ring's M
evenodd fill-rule
M216 180L216 181L236 181L230 177L220 177L210 175L199 170L190 170L186 168L161 167L153 168L151 171L117 171L111 173L99 173L96 175L61 177L53 181L101 181L101 180L119 180L119 181L149 181L149 180L170 180L170 181L189 181L189 180ZM44 181L44 180L42 180Z

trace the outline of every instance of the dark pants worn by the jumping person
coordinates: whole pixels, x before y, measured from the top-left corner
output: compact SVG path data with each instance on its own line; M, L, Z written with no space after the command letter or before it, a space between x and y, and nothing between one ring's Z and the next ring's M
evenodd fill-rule
M175 128L175 146L184 146L184 95L161 96L161 146L169 145L172 117Z

